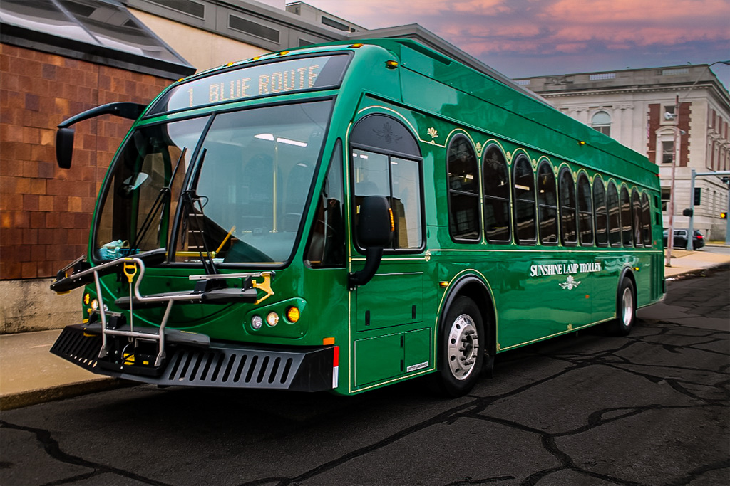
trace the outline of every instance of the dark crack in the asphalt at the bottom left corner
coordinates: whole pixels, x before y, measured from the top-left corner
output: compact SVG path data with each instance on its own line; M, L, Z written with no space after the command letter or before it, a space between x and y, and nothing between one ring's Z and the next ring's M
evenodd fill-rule
M47 455L50 455L51 458L61 461L62 463L73 464L74 466L82 466L85 468L93 469L93 471L89 473L79 474L77 476L64 479L58 479L57 481L53 482L47 482L42 486L66 485L75 481L80 481L82 479L90 479L92 477L99 476L99 474L105 473L118 474L119 476L126 477L128 479L134 479L135 481L144 482L147 485L169 486L166 482L143 477L131 471L125 471L123 469L118 469L113 466L95 463L91 460L80 458L77 455L67 454L66 452L61 450L61 447L58 446L58 441L53 439L50 431L47 431L45 429L18 426L5 420L0 420L0 428L9 428L15 431L23 431L30 434L35 434L36 440L41 443L41 445L43 446L43 450L45 450Z

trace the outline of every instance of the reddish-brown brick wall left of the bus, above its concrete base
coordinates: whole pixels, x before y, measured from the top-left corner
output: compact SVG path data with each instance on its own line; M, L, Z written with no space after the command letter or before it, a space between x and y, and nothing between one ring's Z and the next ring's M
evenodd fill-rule
M85 253L96 193L131 121L74 125L74 159L55 163L55 129L104 103L149 103L169 79L0 44L0 280L55 275Z

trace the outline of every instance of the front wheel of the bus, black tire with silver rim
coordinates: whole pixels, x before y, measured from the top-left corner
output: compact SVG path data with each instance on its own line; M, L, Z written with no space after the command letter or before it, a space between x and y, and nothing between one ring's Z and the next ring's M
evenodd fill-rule
M488 337L482 313L469 297L456 297L439 332L437 388L447 396L464 396L482 374Z

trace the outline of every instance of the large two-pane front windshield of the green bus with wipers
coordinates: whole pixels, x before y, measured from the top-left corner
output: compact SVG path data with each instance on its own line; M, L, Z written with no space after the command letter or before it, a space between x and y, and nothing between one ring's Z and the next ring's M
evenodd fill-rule
M331 107L317 101L228 111L205 133L208 117L137 128L102 197L94 256L167 248L176 220L174 262L283 264Z

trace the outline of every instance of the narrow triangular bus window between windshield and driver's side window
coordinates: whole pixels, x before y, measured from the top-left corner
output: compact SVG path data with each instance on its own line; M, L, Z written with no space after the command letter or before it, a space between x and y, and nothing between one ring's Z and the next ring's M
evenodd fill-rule
M342 206L345 200L342 184L342 142L332 152L327 176L316 201L305 262L310 267L342 267L345 265L345 224Z

